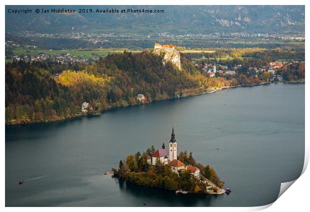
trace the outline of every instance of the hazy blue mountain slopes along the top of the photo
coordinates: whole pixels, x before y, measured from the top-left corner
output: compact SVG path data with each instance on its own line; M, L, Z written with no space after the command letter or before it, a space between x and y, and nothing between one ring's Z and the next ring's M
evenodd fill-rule
M161 14L9 14L5 6L5 32L91 32L116 34L281 33L304 34L304 6L28 6L35 9L124 8L164 10ZM24 6L22 6L24 8ZM181 27L180 27L181 26Z

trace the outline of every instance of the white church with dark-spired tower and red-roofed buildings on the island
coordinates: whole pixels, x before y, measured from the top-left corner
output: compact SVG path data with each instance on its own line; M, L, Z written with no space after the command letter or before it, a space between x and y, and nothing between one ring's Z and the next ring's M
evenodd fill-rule
M196 178L200 178L200 170L191 165L185 165L183 162L177 159L177 142L175 140L174 128L172 127L171 138L169 141L169 148L165 148L164 143L160 149L157 149L152 155L147 155L147 163L149 165L157 165L156 163L162 163L163 165L169 164L171 170L175 173L178 171L189 171Z

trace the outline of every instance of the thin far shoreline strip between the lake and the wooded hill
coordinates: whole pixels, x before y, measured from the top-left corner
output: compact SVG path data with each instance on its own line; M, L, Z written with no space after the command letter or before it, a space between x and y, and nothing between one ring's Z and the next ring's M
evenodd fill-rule
M285 84L304 84L305 81L293 81L293 82L285 82L285 81L278 81L278 82L262 82L262 83L256 83L256 84L247 84L247 85L235 85L235 86L224 86L221 88L207 88L205 89L204 92L199 92L199 93L190 93L189 95L185 95L185 96L175 96L173 98L169 98L169 99L158 99L158 100L153 100L152 102L145 102L143 104L150 104L153 103L155 101L162 101L162 100L171 100L171 99L179 99L179 98L184 98L184 97L190 97L190 96L199 96L199 95L203 95L203 94L210 94L210 93L216 93L217 91L221 91L221 90L225 90L225 89L231 89L231 88L239 88L239 87L253 87L253 86L260 86L260 85L267 85L267 84L271 84L271 83L285 83ZM128 105L126 107L134 107L134 106L139 106L142 104L136 104L136 105ZM125 107L113 107L113 108L108 108L105 110L102 110L102 114L105 112L108 112L110 110L113 109L117 109L117 108L125 108ZM102 115L100 114L100 115ZM12 125L27 125L27 124L35 124L35 123L50 123L50 122L58 122L58 121L66 121L66 120L70 120L70 119L75 119L75 118L80 118L80 117L93 117L93 116L100 116L98 115L92 115L92 114L82 114L82 115L78 115L75 117L70 117L70 118L63 118L63 119L59 119L59 120L50 120L50 121L39 121L39 122L28 122L28 123L13 123L13 124L6 124L5 126L12 126Z

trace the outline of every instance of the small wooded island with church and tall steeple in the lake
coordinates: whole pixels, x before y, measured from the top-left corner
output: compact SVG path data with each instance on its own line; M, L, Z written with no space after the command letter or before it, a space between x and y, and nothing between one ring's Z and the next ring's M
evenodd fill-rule
M224 182L209 165L197 163L192 152L180 151L174 128L168 148L162 143L155 150L152 145L142 154L127 155L119 161L118 169L112 168L112 177L137 185L173 190L175 193L222 194L230 189L222 189Z

